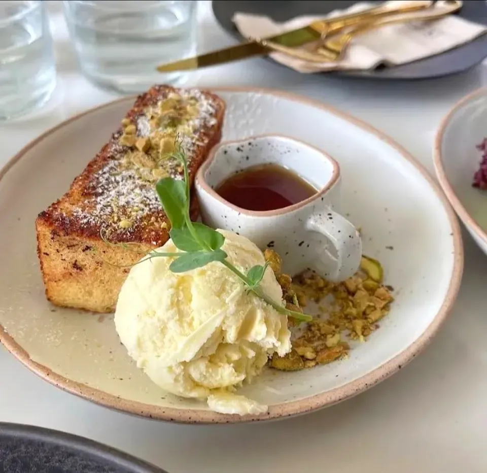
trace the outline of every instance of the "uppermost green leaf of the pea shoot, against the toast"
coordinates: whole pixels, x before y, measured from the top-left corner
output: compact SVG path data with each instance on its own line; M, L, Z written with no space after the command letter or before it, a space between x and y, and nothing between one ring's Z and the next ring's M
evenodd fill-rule
M156 192L164 212L171 222L171 228L181 228L186 222L186 215L189 213L186 182L163 178L157 182Z

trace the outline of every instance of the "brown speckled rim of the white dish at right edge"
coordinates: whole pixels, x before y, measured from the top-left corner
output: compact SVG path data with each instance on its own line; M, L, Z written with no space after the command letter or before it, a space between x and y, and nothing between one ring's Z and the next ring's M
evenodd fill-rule
M458 214L460 219L468 225L475 234L487 245L487 231L475 221L475 219L469 214L466 207L462 204L462 201L458 198L455 193L454 188L450 185L448 178L446 177L446 172L443 167L443 157L441 153L441 143L443 143L443 138L445 135L446 127L451 121L451 118L467 103L472 99L477 98L479 95L487 96L487 87L481 87L480 89L474 90L465 97L461 98L443 117L440 122L440 126L436 132L435 146L433 152L433 163L435 166L436 176L440 183L446 198L454 208L455 212Z

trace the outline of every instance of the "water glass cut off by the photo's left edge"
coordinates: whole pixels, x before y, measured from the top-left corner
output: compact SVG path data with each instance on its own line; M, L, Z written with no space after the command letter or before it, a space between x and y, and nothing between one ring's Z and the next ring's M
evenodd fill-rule
M0 121L43 105L56 85L44 2L0 1Z

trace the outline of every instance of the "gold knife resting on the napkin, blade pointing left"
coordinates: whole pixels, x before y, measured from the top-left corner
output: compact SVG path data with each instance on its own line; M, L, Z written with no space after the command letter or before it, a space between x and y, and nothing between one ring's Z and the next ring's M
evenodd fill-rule
M392 14L393 12L396 14L402 14L428 8L431 4L432 2L411 2L411 4L404 5L398 9L385 8L383 5L378 5L361 12L315 21L303 28L287 31L272 38L266 38L266 40L277 45L293 48L311 41L319 40L324 33L329 31L329 26L335 23L338 23L339 27L343 27L349 25L350 22L353 24L358 20L361 20L364 16L367 17L371 14L375 14L377 16L380 16L381 14L388 15ZM339 29L339 27L333 28L333 30L335 31L335 29ZM253 56L264 55L268 54L270 51L272 51L272 49L264 46L263 44L256 41L249 41L247 43L238 44L236 46L220 49L218 51L212 51L199 56L162 64L157 66L157 70L159 72L194 70L199 69L200 67L224 64L225 62L232 62L240 59L247 59Z

